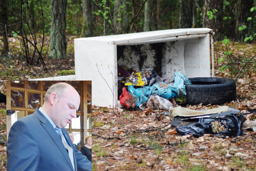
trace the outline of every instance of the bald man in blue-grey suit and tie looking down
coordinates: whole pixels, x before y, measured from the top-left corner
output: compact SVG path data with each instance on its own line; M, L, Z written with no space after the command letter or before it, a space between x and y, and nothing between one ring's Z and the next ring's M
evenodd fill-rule
M7 142L7 171L91 171L65 127L76 118L80 96L67 83L52 85L44 105L15 122Z

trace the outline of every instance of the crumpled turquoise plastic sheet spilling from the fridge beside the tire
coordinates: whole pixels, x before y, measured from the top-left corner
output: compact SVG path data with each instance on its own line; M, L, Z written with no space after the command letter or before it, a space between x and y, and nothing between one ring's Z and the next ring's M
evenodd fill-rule
M159 82L161 84L165 84L163 82ZM165 99L171 99L172 97L181 97L186 95L186 84L191 84L188 78L183 75L180 71L174 73L174 84L167 85L168 88L163 88L159 85L159 83L154 84L153 86L144 86L143 88L135 89L132 85L128 86L128 90L131 94L135 94L140 98L141 103L146 103L148 98L156 93Z

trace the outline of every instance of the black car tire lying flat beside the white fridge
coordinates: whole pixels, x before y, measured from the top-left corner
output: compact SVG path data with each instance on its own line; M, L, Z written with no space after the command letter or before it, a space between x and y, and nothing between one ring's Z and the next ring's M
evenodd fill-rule
M192 84L185 84L185 104L222 105L236 99L236 83L227 78L188 78Z

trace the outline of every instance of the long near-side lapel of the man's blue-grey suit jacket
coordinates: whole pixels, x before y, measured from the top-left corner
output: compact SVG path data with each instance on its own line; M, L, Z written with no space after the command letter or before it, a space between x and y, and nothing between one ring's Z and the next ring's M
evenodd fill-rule
M38 109L36 109L34 114L41 121L41 125L44 127L44 129L51 136L53 142L57 145L57 147L59 148L60 152L63 154L63 156L65 157L66 161L68 162L69 167L73 170L73 166L72 166L71 161L69 159L68 152L67 152L66 148L64 147L64 145L63 145L63 143L62 143L62 141L60 139L60 136L58 135L58 133L53 128L52 124L47 120L47 118ZM66 137L66 136L64 135L64 137ZM67 138L66 138L66 140L67 140Z

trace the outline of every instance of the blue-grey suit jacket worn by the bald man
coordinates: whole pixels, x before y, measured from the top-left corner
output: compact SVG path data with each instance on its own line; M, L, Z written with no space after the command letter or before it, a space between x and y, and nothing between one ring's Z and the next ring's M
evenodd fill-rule
M92 163L73 148L75 171L91 171ZM68 152L52 124L36 109L12 125L7 142L7 171L73 171Z

